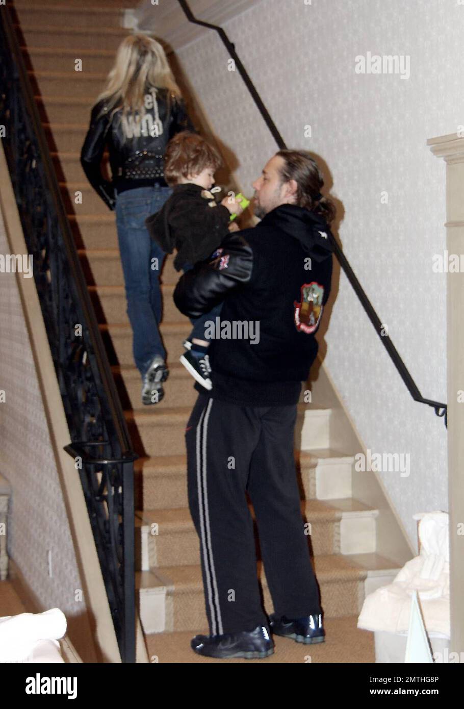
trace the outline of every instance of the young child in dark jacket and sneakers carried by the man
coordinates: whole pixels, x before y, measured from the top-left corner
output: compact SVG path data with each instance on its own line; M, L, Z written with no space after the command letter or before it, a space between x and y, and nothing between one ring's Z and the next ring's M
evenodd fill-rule
M215 171L222 160L214 147L200 135L184 130L169 141L164 155L164 178L173 186L173 193L162 209L145 221L152 239L171 254L176 271L186 272L203 261L219 247L227 230L236 229L230 223L231 214L241 214L239 201L225 197L217 203L210 189ZM216 188L217 190L217 188ZM208 345L205 323L219 316L222 303L210 313L191 320L193 330L183 346L186 352L181 362L205 389L211 389Z

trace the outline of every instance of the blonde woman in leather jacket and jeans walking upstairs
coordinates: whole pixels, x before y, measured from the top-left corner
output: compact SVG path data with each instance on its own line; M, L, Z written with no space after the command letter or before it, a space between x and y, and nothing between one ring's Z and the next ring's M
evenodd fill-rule
M164 179L164 151L182 130L195 132L162 45L147 35L130 35L120 44L106 89L92 108L81 165L116 213L133 354L145 404L161 401L162 383L169 374L159 334L159 275L165 254L150 239L145 219L159 211L172 192ZM101 172L106 147L111 182Z

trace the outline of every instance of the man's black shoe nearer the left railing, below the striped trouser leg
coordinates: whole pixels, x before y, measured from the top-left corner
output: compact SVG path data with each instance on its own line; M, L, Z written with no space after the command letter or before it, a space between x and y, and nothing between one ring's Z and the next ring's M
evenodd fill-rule
M196 635L191 641L191 647L198 655L221 659L259 659L269 657L274 652L271 633L265 625L257 625L254 630L229 632L225 635Z

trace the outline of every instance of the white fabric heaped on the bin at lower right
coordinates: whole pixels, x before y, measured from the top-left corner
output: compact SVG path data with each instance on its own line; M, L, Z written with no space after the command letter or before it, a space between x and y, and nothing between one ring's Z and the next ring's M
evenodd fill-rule
M391 584L366 597L358 627L407 631L412 593L417 591L427 632L450 637L448 514L430 512L415 516L420 518L419 556L404 564Z

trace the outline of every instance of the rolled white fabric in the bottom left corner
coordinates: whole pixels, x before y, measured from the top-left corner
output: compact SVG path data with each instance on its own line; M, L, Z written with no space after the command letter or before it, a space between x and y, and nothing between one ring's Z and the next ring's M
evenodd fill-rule
M62 661L57 659L60 643L56 641L64 636L66 628L66 617L60 608L0 618L0 662Z

